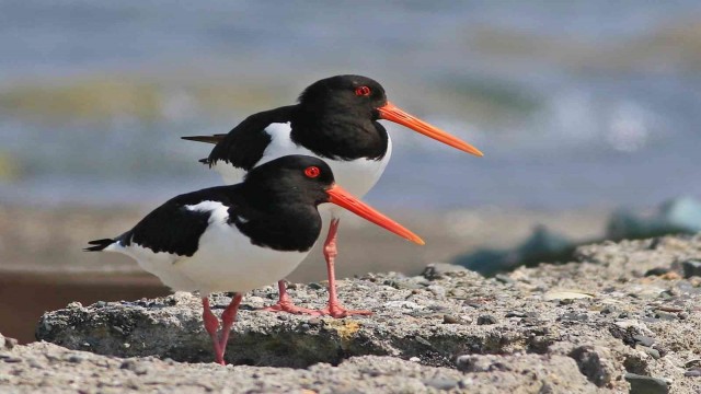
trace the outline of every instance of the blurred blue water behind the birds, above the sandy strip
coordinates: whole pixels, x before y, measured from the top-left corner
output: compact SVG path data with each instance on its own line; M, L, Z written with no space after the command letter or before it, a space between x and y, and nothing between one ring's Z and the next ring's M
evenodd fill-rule
M624 66L610 59L628 43L701 23L698 1L0 1L0 93L185 72L290 86L271 103L279 106L318 78L354 72L485 152L390 127L393 160L368 195L380 207L644 207L701 196L701 66L659 49ZM594 55L578 57L587 48ZM176 93L163 94L177 103L187 91L172 80ZM0 202L154 204L219 184L196 163L207 147L177 137L227 131L246 112L177 108L99 124L0 111L0 157L22 169L0 181Z

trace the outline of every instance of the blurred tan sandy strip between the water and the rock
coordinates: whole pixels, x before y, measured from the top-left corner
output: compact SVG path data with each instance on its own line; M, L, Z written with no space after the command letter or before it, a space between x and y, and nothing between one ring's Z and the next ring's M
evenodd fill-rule
M158 279L128 257L82 252L87 241L120 234L147 212L148 208L0 207L0 332L27 343L34 338L42 313L71 301L168 294ZM591 239L604 231L608 210L547 212L484 207L387 213L420 234L426 245L405 242L348 215L340 232L337 277L391 270L417 274L427 263L450 260L479 247L510 247L539 223L574 239ZM288 279L325 279L319 247Z

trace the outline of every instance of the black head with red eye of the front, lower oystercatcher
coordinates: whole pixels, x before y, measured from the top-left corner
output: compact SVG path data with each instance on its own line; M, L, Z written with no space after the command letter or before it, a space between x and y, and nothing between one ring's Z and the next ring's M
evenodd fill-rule
M286 155L251 170L246 189L258 201L284 200L319 205L329 201L326 190L334 185L333 172L323 160L308 155Z

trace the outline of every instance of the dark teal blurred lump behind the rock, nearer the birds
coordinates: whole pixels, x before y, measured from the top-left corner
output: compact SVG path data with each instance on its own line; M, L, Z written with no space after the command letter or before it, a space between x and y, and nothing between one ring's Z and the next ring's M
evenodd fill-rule
M485 276L512 270L519 266L535 266L542 262L567 262L577 244L555 234L544 225L537 225L533 233L514 250L480 250L458 256L453 260Z

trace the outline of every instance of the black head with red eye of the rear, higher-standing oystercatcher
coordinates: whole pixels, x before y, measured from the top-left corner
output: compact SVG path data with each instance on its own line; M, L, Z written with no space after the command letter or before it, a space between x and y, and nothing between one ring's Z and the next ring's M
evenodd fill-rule
M371 119L387 104L384 88L363 76L335 76L319 80L299 96L300 107L309 112L331 111Z

